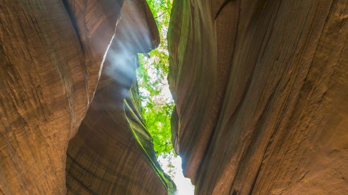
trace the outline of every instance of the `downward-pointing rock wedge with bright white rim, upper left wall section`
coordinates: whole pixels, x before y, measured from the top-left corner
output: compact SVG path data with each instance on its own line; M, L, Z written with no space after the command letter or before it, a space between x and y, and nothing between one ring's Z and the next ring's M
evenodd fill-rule
M115 34L123 0L63 0L81 43L93 99L104 59Z

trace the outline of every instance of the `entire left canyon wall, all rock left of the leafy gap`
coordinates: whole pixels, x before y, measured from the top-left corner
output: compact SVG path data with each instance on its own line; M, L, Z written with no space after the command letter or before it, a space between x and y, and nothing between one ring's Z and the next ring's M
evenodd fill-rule
M122 4L0 1L0 194L165 194L175 188L158 166L137 100L136 54L156 47L158 30L138 0L125 5L140 24L123 19L115 31ZM82 133L67 154L78 128Z

